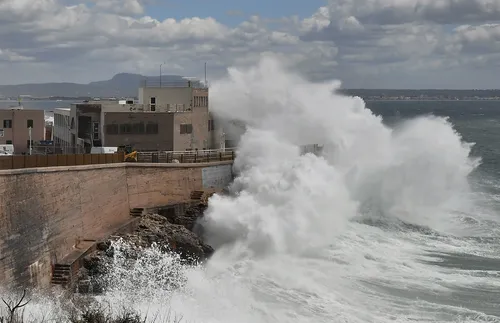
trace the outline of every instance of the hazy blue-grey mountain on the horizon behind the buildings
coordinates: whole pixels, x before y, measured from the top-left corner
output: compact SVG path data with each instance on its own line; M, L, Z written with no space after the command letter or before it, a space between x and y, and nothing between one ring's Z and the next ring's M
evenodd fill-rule
M78 83L39 83L0 85L0 96L17 97L31 95L33 97L136 97L138 88L144 80L159 84L159 76L144 76L140 74L120 73L107 81ZM187 82L180 75L162 75L162 83Z

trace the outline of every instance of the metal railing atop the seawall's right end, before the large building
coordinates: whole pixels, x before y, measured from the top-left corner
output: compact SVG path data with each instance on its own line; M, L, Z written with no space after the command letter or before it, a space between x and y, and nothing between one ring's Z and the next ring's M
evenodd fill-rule
M137 152L139 163L209 163L234 158L234 149Z

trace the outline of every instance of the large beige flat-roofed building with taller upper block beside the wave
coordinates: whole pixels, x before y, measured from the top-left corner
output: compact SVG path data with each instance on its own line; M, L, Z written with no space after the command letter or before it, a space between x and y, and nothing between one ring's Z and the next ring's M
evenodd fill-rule
M138 101L93 101L56 109L54 115L60 114L60 122L64 121L60 126L55 122L56 145L62 142L61 147L75 151L120 145L142 151L184 151L218 149L224 142L209 113L207 88L193 87L191 82L144 83Z

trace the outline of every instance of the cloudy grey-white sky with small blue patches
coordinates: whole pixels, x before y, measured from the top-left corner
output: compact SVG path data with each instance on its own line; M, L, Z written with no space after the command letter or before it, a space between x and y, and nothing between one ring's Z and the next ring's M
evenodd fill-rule
M500 0L0 0L0 84L261 55L350 88L500 88Z

